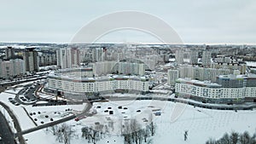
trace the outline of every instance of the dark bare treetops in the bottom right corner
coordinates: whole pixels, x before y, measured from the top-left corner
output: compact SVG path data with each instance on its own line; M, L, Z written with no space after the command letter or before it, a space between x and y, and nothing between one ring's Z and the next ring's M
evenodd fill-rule
M256 133L250 135L247 131L242 134L233 131L230 135L225 133L219 140L211 138L206 144L256 144Z

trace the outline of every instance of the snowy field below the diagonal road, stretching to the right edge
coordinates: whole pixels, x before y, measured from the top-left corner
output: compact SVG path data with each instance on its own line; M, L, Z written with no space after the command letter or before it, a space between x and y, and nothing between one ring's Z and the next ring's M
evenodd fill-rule
M117 107L120 105L127 107L127 110L118 109ZM71 143L85 142L81 138L80 132L83 126L93 125L96 121L104 124L107 121L107 117L112 119L136 117L138 120L142 120L142 118L147 117L148 112L152 111L152 108L160 109L161 111L161 116L154 116L154 122L157 124L156 135L153 137L154 143L200 144L205 143L210 137L219 138L225 132L231 132L232 130L243 132L247 130L252 134L256 128L256 111L219 111L186 105L184 111L180 113L180 117L177 118L177 121L171 123L173 108L184 107L184 104L166 101L112 101L111 103L98 103L95 106L102 107L97 109L98 113L92 118L84 118L79 122L68 122L68 124L73 124L73 129L76 130L77 135ZM148 108L148 106L150 107ZM112 107L113 115L110 115L109 112L104 112L108 107ZM138 109L144 113L137 113L136 111ZM115 121L115 124L118 125L119 122ZM189 130L188 141L183 141L185 130ZM103 144L107 143L107 141L109 143L123 143L123 138L115 135L117 132L113 130L113 135L110 135L110 137L107 135L106 138L97 143ZM25 137L29 140L28 143L35 143L36 141L38 143L41 140L41 143L59 143L55 141L55 137L52 134L46 133L45 130L27 134ZM46 137L47 139L44 139Z

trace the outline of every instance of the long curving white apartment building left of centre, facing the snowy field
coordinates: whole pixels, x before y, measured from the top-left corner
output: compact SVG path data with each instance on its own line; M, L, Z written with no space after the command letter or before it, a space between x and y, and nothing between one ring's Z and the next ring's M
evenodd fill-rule
M148 91L148 78L137 76L76 77L67 72L52 72L48 76L48 87L71 93L90 93L108 90ZM73 70L75 71L75 69ZM80 71L80 70L79 70ZM66 73L66 74L62 74Z

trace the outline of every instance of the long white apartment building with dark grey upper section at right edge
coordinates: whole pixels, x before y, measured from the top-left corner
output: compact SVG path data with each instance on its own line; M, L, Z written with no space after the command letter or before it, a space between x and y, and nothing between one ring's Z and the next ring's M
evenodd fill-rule
M218 84L209 81L178 78L176 94L218 100L241 100L256 98L256 77L225 75L219 76Z

